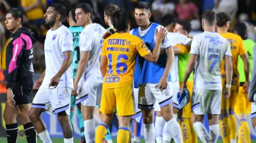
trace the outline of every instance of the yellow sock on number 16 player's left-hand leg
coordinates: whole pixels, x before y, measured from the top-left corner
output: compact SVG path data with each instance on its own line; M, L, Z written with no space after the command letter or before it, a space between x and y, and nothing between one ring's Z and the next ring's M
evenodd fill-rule
M107 128L108 128L108 124L101 121L96 129L96 136L95 136L96 143L102 143L104 140L106 140ZM129 137L129 132L128 132L128 137Z

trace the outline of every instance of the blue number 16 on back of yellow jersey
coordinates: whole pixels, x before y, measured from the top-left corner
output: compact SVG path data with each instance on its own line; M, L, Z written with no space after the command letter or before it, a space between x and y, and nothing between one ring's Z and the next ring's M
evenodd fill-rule
M109 54L108 55L108 59L109 59L109 70L107 71L108 74L113 74L113 70L112 70L112 54ZM127 64L126 63L123 63L121 62L121 59L124 59L124 60L128 60L128 57L124 54L120 54L118 55L118 58L117 58L117 74L122 74L122 73L125 73L127 71ZM121 67L123 67L123 70L121 71Z

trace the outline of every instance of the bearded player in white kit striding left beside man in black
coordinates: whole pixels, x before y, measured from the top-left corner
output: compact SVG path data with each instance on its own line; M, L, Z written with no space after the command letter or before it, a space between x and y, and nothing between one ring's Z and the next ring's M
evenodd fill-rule
M73 88L72 51L73 36L62 25L66 19L66 8L61 4L52 4L44 14L45 24L50 26L44 41L46 69L40 79L34 83L39 88L29 118L34 124L38 136L43 141L52 142L42 121L41 113L57 114L62 127L64 143L73 142L73 129L69 121L70 97Z

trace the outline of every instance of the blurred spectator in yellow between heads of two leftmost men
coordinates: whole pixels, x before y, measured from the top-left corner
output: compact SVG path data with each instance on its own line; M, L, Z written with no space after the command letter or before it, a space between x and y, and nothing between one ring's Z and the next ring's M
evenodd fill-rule
M44 23L46 0L21 0L21 6L24 12L26 12L29 24L40 28Z

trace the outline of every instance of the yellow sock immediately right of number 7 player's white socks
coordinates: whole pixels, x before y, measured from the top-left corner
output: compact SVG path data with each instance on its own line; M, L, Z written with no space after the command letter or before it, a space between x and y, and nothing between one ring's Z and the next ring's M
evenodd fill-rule
M222 135L224 143L230 142L230 127L228 124L228 116L220 115L219 119L219 132Z

